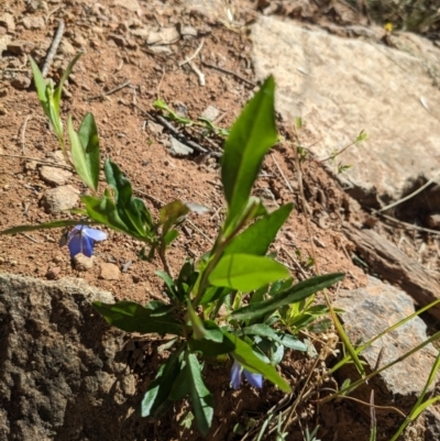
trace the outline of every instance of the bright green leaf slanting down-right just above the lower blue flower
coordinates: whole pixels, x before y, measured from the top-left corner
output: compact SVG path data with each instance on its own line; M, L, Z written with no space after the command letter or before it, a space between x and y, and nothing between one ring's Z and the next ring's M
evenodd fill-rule
M283 392L290 393L290 386L279 376L276 368L258 359L252 348L237 335L223 331L224 335L235 345L233 357L249 372L262 374L265 378L278 386Z

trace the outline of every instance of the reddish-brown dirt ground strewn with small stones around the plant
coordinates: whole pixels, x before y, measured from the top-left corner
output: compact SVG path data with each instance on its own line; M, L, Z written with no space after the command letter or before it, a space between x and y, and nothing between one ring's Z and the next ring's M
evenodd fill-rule
M29 81L29 56L42 64L62 19L65 33L48 77L57 81L59 73L76 52L86 51L64 96L62 113L65 120L72 113L78 126L86 112L95 114L102 156L120 165L136 195L145 200L154 214L163 203L176 198L202 203L210 209L207 214L193 214L191 223L182 227L182 234L169 253L172 267L177 271L186 257L197 258L209 250L221 224L224 200L219 163L215 156L198 152L185 157L172 155L169 132L157 125L152 104L162 98L193 120L211 106L219 111L217 124L229 128L256 90L250 57L252 42L245 25L260 12L255 2L234 2L232 25L227 15L207 19L180 1L139 3L141 10L132 8L130 1L118 0L1 2L0 16L9 13L13 23L0 21L0 47L8 36L11 42L21 43L10 49L2 47L3 52L0 52L0 229L73 218L68 212L47 213L41 203L44 192L51 188L41 178L41 167L45 165L43 162L54 162L53 152L58 145ZM284 12L300 20L305 19L302 15L307 11ZM323 20L338 16L333 11ZM160 45L158 49L145 43L146 38L154 36L153 30L164 27L177 30L169 44ZM168 36L161 35L162 38ZM194 62L205 75L205 86L200 86L199 77L188 63L184 63L201 42L204 45ZM120 86L123 87L113 90ZM288 201L296 205L296 210L278 234L274 251L298 279L315 274L316 267L308 265L308 261L316 257L321 274L346 274L342 288L362 286L365 275L352 263L352 246L340 230L343 221L364 221L366 214L344 195L319 163L308 158L301 163L311 220L307 224L298 173L288 142L292 140L290 121L279 119L278 123L284 141L266 157L255 186L255 195L262 197L268 208ZM186 136L208 151L221 151L222 139L219 136L204 139L194 129L188 130ZM301 133L301 143L307 147L307 126ZM86 191L76 177L68 184ZM96 246L92 268L79 272L74 268L67 249L58 246L61 234L58 230L46 230L0 236L0 271L51 279L81 277L91 285L112 291L119 300L146 302L161 296L162 285L154 274L161 269L161 264L158 261L140 261L141 244L135 240L110 233L107 241ZM112 263L120 271L108 274L103 271L105 263ZM215 385L216 379L208 379L208 383ZM218 421L223 428L221 434L213 433L210 439L240 439L232 433L237 422L245 420L250 412L262 416L280 399L273 389L258 397L248 390L241 393L252 395L248 399L253 404L248 408L244 403L250 401L243 401L242 395L240 404L231 390L221 394L221 397L227 394L228 399L220 398L216 411L221 416ZM349 404L339 404L338 409L342 408L348 411L340 414L341 418L330 418L337 411L333 408L327 414L324 411L324 417L321 415L320 419L311 420L314 426L317 421L323 425L320 438L332 440L339 432L338 440L366 439L366 423L358 418ZM155 439L198 439L195 431L182 431L173 416L169 419L172 423L168 427L165 423L162 429L161 425L157 426L155 433L160 434ZM292 439L297 439L294 433Z

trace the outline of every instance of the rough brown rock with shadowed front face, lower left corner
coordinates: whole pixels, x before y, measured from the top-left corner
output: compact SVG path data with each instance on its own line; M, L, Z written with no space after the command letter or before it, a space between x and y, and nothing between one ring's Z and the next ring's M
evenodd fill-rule
M148 438L134 408L124 333L91 301L110 293L80 279L0 275L0 440Z

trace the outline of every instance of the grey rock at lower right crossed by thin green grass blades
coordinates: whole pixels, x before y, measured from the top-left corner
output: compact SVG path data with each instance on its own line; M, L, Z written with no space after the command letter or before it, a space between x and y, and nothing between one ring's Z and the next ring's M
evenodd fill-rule
M365 288L341 290L334 306L345 311L341 319L353 344L367 342L415 312L413 299L407 294L374 277L369 277ZM426 328L425 322L416 317L376 340L361 353L361 357L367 363L367 373L375 367L387 365L426 341ZM424 388L437 353L438 351L429 344L383 371L370 381L369 386L358 389L354 394L369 403L370 390L374 388L375 404L397 406L407 411ZM342 371L342 376L352 374L350 367ZM370 411L366 407L363 410Z

